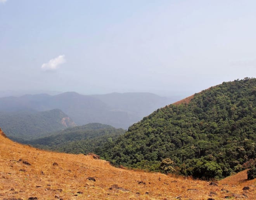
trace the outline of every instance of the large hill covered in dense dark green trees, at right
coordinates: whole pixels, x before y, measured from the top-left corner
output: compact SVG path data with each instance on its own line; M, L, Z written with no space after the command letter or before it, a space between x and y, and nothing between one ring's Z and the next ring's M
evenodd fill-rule
M157 109L102 156L117 165L221 178L256 158L255 141L256 79L245 78Z

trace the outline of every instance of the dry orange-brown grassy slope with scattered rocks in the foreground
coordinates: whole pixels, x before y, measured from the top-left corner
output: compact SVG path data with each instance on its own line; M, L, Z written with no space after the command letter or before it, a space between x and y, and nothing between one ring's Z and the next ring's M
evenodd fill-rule
M219 186L212 186L201 180L114 168L93 156L38 150L12 142L2 132L0 141L1 199L217 200L234 193L256 199L255 180L237 182L236 186L231 185L233 182L223 186L220 181ZM246 178L246 173L242 176ZM244 191L244 186L250 189ZM223 187L230 192L221 191Z

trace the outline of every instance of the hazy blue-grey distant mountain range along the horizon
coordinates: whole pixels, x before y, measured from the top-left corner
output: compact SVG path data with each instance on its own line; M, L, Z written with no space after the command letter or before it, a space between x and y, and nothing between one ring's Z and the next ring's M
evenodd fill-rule
M112 93L80 95L66 92L59 95L23 95L0 98L0 112L32 112L60 109L78 125L109 124L127 129L143 116L170 104L170 99L151 93Z

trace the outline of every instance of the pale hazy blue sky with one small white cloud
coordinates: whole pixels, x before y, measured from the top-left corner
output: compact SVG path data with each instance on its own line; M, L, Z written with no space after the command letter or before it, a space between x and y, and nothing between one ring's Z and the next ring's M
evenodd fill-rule
M0 0L0 90L193 94L256 77L255 0Z

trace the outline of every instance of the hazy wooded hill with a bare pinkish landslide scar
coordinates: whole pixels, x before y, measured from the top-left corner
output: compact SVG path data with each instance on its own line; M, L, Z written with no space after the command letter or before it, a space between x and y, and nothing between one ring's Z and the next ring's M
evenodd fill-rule
M8 137L24 141L74 127L76 124L64 112L54 109L43 112L0 112L0 126Z

